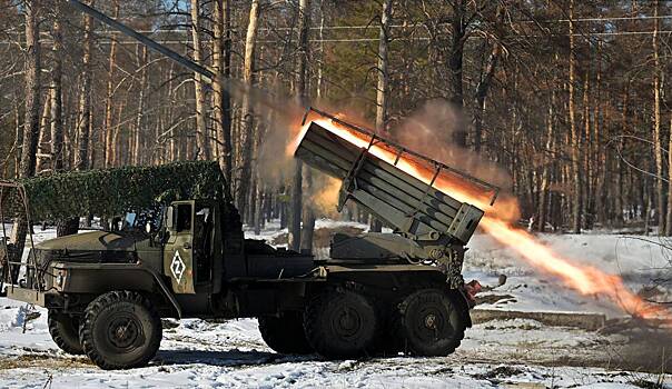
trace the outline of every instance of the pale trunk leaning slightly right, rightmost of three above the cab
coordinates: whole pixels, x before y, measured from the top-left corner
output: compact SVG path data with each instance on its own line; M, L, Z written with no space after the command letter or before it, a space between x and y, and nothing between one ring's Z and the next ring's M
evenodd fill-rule
M247 24L247 36L245 38L245 67L243 70L243 79L248 86L255 82L255 51L256 51L256 38L259 26L259 0L251 0L251 7L249 10L249 23ZM239 163L237 166L237 186L236 186L236 201L238 203L238 210L244 215L247 206L248 191L250 188L251 179L251 160L253 147L255 139L255 126L253 120L251 101L249 94L246 93L243 98L243 109L240 113L240 120L243 121L240 129L240 144L239 150Z

